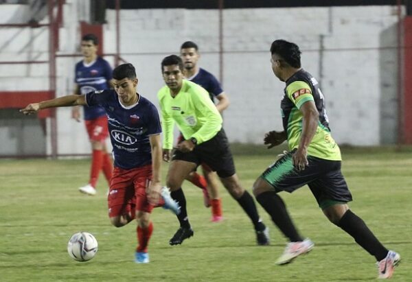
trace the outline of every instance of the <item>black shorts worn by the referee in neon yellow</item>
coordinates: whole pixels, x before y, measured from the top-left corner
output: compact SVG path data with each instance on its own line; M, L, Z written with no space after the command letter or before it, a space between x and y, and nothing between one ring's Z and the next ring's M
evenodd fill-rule
M192 152L183 153L175 150L172 161L175 160L196 163L196 167L205 163L222 178L232 176L236 173L233 156L229 148L229 141L227 141L223 128L212 139L196 145Z

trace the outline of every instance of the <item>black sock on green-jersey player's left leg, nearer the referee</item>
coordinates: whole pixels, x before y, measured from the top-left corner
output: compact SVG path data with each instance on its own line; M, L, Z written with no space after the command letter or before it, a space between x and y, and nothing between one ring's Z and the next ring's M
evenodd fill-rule
M258 195L256 200L258 200L264 210L271 215L271 218L273 222L275 222L277 228L279 228L280 231L282 231L282 233L290 239L290 242L303 241L302 237L297 232L288 211L286 211L284 201L282 198L277 196L277 193L267 191Z

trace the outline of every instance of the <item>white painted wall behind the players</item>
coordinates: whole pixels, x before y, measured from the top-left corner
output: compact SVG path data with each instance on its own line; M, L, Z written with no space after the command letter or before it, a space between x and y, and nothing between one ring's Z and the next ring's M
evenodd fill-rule
M66 21L60 30L62 54L78 50L76 14L84 18L87 9L82 2L71 0L65 5ZM114 53L115 11L108 10L106 16L104 51ZM388 32L396 30L396 7L231 9L224 10L223 17L222 84L231 99L224 118L231 142L261 143L264 132L282 128L279 102L284 83L271 72L268 51L277 38L297 43L303 51L304 68L321 81L332 134L338 143L378 145L385 126L396 125L396 108L381 110L388 100L382 96L392 97L389 106L396 106L396 36ZM165 56L178 54L185 40L198 43L201 67L218 76L217 10L122 10L120 18L121 56L137 69L139 93L155 104L157 91L163 86L160 62ZM23 36L18 38L9 45L21 44ZM0 46L3 40L0 36ZM43 50L41 44L37 47ZM79 59L58 59L59 95L71 93L73 67ZM113 58L108 60L113 62ZM7 77L14 72L0 69L0 82L10 82ZM28 75L20 80L19 87L47 85L47 76L43 82L33 83L38 73L25 73ZM8 84L0 87L4 85ZM72 121L69 113L67 108L58 110L59 153L89 153L84 126ZM383 142L393 140L389 137Z

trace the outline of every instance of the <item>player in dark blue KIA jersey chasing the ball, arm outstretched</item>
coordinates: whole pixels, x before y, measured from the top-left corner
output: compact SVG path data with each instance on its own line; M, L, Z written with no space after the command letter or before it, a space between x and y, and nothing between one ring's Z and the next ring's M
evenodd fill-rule
M132 64L121 64L113 71L115 90L68 95L27 105L25 115L43 108L61 106L102 106L108 116L115 168L108 193L111 224L121 227L136 218L137 263L148 263L148 242L153 231L150 213L163 206L179 214L179 204L170 191L161 187L162 145L157 108L137 93L137 78Z

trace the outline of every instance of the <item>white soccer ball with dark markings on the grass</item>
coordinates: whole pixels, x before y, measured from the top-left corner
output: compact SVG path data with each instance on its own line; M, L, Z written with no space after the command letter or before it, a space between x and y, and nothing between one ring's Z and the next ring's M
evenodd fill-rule
M98 241L87 232L73 234L67 244L67 252L76 261L89 261L98 252Z

